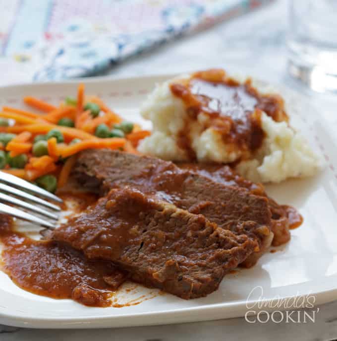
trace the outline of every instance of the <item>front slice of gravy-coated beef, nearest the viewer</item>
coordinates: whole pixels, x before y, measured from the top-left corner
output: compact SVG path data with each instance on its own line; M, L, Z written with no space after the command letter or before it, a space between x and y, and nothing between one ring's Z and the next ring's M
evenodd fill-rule
M137 282L186 299L216 290L225 273L257 247L203 215L130 188L112 190L50 238L82 250L89 259L112 261Z

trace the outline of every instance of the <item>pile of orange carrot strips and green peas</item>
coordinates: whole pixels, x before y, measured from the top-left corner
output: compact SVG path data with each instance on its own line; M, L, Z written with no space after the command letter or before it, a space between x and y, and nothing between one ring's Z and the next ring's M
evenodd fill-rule
M25 104L39 113L12 107L0 112L0 169L55 192L65 185L76 154L88 148L136 153L140 139L149 136L123 121L97 96L67 97L58 107L35 97Z

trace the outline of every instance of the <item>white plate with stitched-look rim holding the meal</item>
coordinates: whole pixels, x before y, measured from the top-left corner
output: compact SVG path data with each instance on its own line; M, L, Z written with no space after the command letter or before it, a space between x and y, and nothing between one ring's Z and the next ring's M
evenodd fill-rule
M84 81L87 94L99 95L124 118L146 127L148 123L138 114L139 103L156 82L166 78L168 76ZM56 104L65 96L74 95L76 86L77 81L3 87L0 88L0 105L21 106L25 95L35 95ZM291 231L288 244L276 253L265 254L252 269L225 276L219 290L205 298L187 301L169 294L159 295L154 289L138 285L131 292L124 287L117 294L120 303L131 299L142 301L123 308L89 308L71 300L37 296L18 288L0 272L0 323L33 328L98 328L238 317L247 311L247 297L256 286L263 288L265 300L308 294L315 296L315 304L337 299L336 141L303 98L286 89L281 93L293 107L292 125L307 136L312 145L318 146L327 160L326 169L314 178L267 187L273 198L295 206L304 216L303 225ZM258 299L258 290L255 290L248 304L251 306Z

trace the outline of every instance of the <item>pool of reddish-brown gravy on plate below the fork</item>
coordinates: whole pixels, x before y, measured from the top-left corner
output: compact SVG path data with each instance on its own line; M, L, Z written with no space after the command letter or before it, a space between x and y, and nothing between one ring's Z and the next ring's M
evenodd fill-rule
M64 194L85 208L92 195ZM71 298L81 304L107 307L126 276L110 262L89 261L82 253L50 241L36 241L13 230L9 216L0 215L3 245L1 270L19 287L51 298ZM109 284L108 284L109 283Z

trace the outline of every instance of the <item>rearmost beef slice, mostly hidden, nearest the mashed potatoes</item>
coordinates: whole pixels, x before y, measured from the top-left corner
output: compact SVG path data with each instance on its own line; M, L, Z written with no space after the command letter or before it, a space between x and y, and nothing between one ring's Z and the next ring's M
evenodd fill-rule
M275 200L269 198L262 184L242 178L226 165L177 163L177 166L201 174L221 184L245 188L252 194L268 198L269 207L272 212L272 231L274 233L272 245L279 246L290 240L289 212L292 212L294 208L287 205L279 205ZM297 212L297 214L299 213Z

